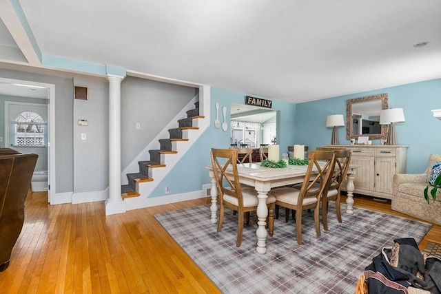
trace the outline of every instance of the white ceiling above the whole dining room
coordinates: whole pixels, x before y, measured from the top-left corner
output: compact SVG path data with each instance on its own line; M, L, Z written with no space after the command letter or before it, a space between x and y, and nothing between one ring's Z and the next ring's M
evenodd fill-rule
M294 103L441 77L439 0L19 3L43 54Z

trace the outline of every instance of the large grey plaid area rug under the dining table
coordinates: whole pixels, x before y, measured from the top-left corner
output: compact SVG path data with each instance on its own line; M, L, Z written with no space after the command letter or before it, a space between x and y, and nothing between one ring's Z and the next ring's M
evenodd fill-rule
M344 205L342 206L342 211ZM236 247L237 215L225 209L223 229L209 222L209 205L159 213L154 217L223 293L354 293L365 266L393 239L417 242L431 224L389 216L358 207L342 212L337 221L329 204L329 231L317 237L313 213L303 212L302 245L296 242L294 220L285 222L285 209L274 220L267 253L256 252L255 215L245 224L242 245Z

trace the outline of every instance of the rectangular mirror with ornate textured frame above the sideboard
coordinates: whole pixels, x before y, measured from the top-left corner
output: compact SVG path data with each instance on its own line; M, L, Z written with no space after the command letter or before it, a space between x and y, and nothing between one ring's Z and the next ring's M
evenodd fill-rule
M369 136L369 140L386 138L387 125L380 125L380 111L387 109L387 93L346 101L346 138Z

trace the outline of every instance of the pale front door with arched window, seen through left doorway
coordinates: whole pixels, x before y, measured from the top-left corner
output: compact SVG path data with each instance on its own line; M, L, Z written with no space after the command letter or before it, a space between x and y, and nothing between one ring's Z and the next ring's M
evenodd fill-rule
M35 171L48 171L48 105L7 102L8 146L39 156Z

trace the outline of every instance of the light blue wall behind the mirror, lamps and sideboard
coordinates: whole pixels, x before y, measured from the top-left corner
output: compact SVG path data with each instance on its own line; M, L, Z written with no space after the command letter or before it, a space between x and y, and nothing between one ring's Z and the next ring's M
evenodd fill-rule
M297 104L296 142L315 149L331 143L332 129L326 127L326 117L343 114L346 122L346 100L387 93L389 107L404 109L405 123L396 124L398 145L407 149L407 174L420 174L427 169L429 154L441 154L441 120L433 117L432 109L441 109L441 79L387 87L369 92L328 98ZM340 144L349 144L346 127L338 128ZM379 145L380 140L373 140Z

